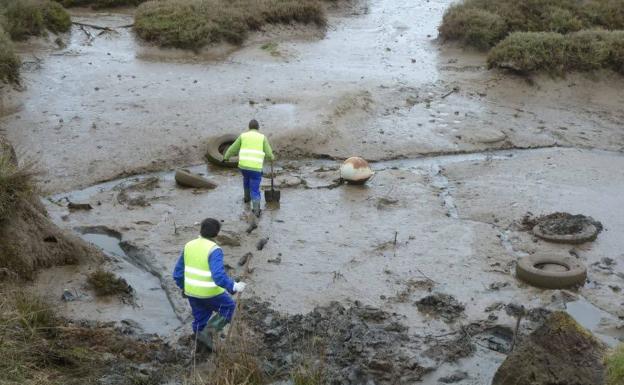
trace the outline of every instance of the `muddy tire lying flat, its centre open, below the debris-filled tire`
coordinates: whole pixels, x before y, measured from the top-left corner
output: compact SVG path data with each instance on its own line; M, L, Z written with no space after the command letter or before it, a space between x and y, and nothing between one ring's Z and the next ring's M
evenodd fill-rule
M555 264L567 271L545 271L535 267L542 264ZM559 255L529 255L522 257L516 265L516 276L526 283L546 289L565 289L583 285L587 279L587 268L573 257Z

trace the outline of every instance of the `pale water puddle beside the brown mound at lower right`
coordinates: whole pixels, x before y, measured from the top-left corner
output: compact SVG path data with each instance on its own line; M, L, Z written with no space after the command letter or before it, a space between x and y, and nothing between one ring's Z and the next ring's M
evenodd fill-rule
M600 340L611 347L624 341L624 330L615 327L605 328L609 321L615 321L610 314L598 309L584 299L568 302L566 312L587 330L594 333Z

